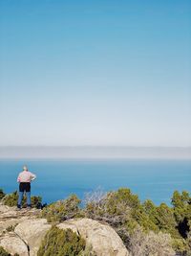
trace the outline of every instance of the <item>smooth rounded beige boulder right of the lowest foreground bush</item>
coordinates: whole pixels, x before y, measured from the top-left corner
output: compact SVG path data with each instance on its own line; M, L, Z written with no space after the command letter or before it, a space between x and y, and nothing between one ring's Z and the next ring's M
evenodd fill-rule
M57 225L61 229L71 228L91 244L97 256L128 256L129 252L108 224L91 219L64 221Z

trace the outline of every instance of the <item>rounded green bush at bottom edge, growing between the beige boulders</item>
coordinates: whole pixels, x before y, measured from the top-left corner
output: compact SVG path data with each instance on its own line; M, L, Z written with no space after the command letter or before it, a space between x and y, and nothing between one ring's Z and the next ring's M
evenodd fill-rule
M53 226L48 231L37 256L77 256L85 250L85 241L71 229L62 230Z

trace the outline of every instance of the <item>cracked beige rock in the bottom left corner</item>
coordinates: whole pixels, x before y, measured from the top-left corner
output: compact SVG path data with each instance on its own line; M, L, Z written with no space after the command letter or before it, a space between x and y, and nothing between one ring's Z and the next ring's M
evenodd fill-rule
M11 254L26 256L29 248L30 255L36 255L43 234L51 228L44 227L45 219L36 219L38 213L37 209L17 211L16 207L0 205L0 245Z

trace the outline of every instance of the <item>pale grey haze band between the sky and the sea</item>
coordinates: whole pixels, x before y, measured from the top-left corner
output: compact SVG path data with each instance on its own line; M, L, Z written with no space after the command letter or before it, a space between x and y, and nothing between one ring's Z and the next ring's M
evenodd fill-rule
M0 147L1 159L191 160L191 147Z

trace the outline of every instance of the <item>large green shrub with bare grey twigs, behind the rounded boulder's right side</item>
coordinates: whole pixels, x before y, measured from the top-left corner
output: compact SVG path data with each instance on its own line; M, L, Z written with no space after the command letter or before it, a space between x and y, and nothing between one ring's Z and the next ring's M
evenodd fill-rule
M158 230L138 196L126 188L110 192L98 202L87 203L84 212L88 218L107 221L113 227L128 228L128 232L133 231L138 224L145 230Z

